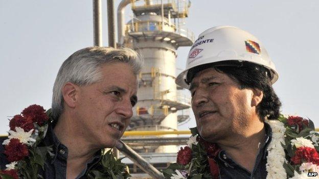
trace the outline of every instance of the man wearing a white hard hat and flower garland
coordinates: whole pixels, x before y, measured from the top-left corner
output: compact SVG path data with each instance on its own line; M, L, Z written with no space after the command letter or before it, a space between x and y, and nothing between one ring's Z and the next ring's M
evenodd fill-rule
M252 34L230 26L201 33L191 47L186 70L176 78L177 85L191 92L197 127L195 135L191 129L188 148L178 152L181 165L164 170L166 178L291 175L284 167L289 149L282 146L288 126L278 120L283 118L281 102L271 86L277 80L274 63ZM310 123L302 122L304 127ZM302 126L296 126L291 130L298 134Z

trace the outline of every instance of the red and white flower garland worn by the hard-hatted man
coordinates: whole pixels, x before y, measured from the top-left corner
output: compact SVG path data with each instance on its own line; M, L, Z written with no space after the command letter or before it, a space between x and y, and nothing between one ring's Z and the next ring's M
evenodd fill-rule
M308 172L319 172L319 134L315 133L311 120L299 116L280 115L278 120L265 120L272 131L267 147L267 179L307 178ZM220 148L204 141L196 129L188 146L180 148L177 162L163 170L168 179L218 178L215 158ZM319 178L318 176L312 178Z

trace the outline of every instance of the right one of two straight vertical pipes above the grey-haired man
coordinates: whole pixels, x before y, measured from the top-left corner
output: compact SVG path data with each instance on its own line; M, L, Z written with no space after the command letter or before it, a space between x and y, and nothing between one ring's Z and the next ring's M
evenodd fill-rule
M115 25L115 23L114 23L114 1L107 0L108 46L116 48L114 25Z

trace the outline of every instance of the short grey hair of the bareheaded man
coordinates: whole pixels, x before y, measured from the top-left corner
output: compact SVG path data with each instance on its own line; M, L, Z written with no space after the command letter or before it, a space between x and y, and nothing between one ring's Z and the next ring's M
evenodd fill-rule
M107 63L127 63L135 75L143 66L143 60L130 48L87 47L67 58L59 69L53 86L52 117L57 120L63 112L62 88L66 83L87 86L102 78L101 66Z

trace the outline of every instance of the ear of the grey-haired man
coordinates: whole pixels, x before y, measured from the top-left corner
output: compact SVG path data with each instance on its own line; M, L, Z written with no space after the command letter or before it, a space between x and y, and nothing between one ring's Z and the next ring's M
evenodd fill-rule
M79 87L73 83L66 83L62 88L62 95L65 104L70 108L75 108Z

